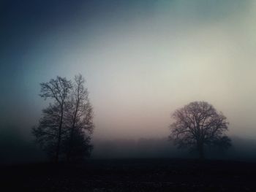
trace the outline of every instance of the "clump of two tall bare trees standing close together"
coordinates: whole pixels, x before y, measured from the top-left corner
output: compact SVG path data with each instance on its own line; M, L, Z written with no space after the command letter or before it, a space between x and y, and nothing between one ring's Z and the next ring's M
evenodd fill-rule
M77 75L74 82L57 77L40 84L40 96L53 99L53 104L42 110L39 126L32 129L32 134L56 162L60 155L70 161L91 153L93 109L84 82L82 75Z

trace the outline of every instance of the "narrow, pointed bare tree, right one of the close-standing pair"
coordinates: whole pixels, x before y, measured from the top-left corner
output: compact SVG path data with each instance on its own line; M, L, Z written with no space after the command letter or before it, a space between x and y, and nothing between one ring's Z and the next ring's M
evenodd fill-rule
M89 101L89 92L84 87L85 80L81 74L75 76L72 92L67 102L67 160L75 156L83 157L91 151L91 134L93 132L93 109Z

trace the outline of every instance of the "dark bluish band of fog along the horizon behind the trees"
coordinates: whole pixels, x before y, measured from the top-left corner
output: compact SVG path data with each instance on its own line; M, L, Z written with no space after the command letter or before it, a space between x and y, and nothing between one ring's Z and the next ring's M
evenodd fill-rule
M33 140L22 137L12 128L1 138L0 164L20 164L48 161L47 156ZM228 150L206 150L206 158L233 161L256 161L256 139L231 136L233 146ZM197 158L196 151L177 149L167 137L140 139L94 140L92 159L115 158Z

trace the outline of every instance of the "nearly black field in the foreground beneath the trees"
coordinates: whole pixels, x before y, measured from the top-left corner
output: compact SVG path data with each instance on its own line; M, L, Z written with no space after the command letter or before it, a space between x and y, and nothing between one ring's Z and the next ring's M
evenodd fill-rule
M256 164L184 159L1 166L0 191L256 191Z

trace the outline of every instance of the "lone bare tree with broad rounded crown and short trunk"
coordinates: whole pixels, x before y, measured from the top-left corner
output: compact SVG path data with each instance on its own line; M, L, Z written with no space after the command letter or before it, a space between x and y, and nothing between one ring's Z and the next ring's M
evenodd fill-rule
M227 118L205 101L187 104L173 113L174 123L170 125L169 138L178 147L195 148L199 157L205 157L205 147L226 149L231 140L225 136Z

